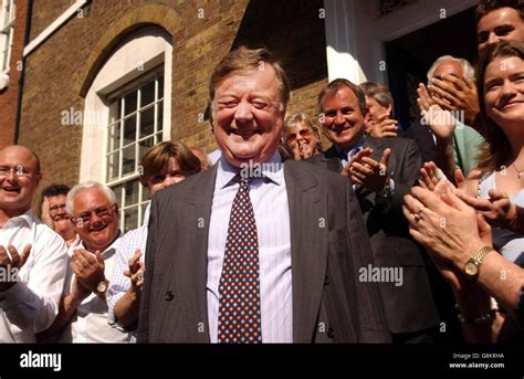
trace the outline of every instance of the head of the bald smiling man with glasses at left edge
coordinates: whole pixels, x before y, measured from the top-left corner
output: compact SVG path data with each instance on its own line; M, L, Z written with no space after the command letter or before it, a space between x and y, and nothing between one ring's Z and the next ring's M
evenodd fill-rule
M42 178L36 159L23 146L0 151L0 210L15 217L31 208L31 200Z

